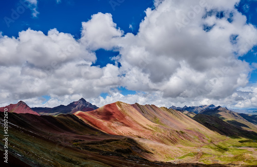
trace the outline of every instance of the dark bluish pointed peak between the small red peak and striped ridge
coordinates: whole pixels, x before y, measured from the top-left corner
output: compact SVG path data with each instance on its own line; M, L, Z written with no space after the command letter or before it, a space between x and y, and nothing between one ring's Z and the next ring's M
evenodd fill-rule
M72 102L68 105L59 105L57 107L34 107L31 108L34 112L40 113L41 115L58 115L58 114L73 114L78 111L87 112L97 109L96 105L87 102L81 98L79 101Z

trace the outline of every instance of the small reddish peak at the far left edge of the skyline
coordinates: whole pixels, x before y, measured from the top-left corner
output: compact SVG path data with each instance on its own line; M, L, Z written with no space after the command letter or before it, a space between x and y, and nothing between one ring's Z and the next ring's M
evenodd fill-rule
M26 103L23 101L19 101L17 104L10 104L5 107L0 107L0 112L4 112L4 109L7 108L9 113L29 113L34 115L40 115L36 112L34 112Z

